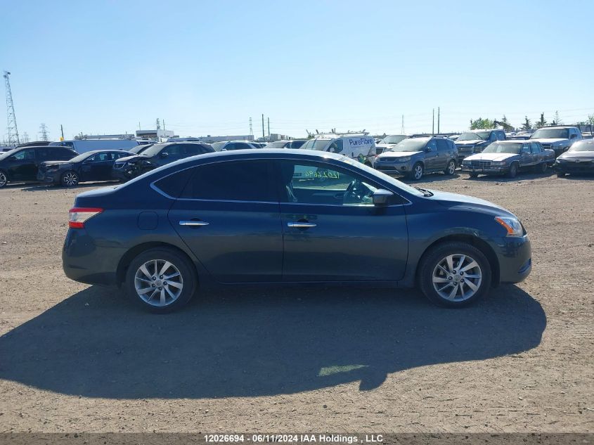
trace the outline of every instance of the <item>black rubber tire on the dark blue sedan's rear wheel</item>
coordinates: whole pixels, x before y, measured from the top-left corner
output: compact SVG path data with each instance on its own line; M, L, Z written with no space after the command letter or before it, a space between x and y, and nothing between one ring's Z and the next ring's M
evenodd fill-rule
M153 277L148 277L146 274L141 272L141 266L146 266L148 262L155 261L157 262L157 269L160 267L162 268L160 262L169 262L172 264L174 269L167 269L167 271L175 271L175 269L179 271L179 277L176 276L175 278L170 278L170 281L176 282L175 288L171 287L169 283L167 283L167 275L159 276L158 273L155 273L155 282L151 280ZM146 269L149 274L154 273L154 269L150 265L146 266ZM137 273L138 276L143 278L137 279ZM174 275L174 273L170 273L170 275ZM145 280L144 277L147 279ZM138 254L129 264L125 279L124 289L126 290L128 297L136 302L136 304L140 304L143 309L155 314L167 314L167 312L175 311L185 306L193 297L198 288L198 277L196 275L194 265L183 254L180 254L173 249L168 249L167 247L158 247ZM136 290L137 283L139 287L143 286L143 288L141 288L139 291ZM177 295L174 299L172 297L172 293L175 294L176 289L180 284L182 286L181 292L179 292L179 295ZM149 288L153 288L154 291L150 290ZM169 289L172 289L173 292L169 291ZM142 292L142 290L148 291ZM159 290L162 290L162 292L159 292ZM149 302L143 299L139 292L143 293L143 295L148 295L152 292L151 295L146 297ZM153 297L153 295L155 295L155 297ZM165 295L165 304L161 304L161 295ZM159 299L159 302L156 301L157 298ZM167 301L168 299L170 300L169 302Z

